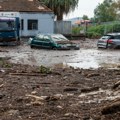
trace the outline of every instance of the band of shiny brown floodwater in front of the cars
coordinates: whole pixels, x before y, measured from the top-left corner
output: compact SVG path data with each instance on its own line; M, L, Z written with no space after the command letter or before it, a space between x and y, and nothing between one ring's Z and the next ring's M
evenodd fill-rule
M120 50L98 50L97 48L80 50L46 50L31 49L24 44L15 47L0 47L0 57L11 57L14 63L45 65L45 66L72 66L75 68L119 68Z

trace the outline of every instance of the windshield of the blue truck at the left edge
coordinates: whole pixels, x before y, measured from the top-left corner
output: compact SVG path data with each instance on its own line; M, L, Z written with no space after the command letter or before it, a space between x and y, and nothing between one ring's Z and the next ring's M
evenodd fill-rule
M13 20L0 20L0 30L14 30L15 21Z

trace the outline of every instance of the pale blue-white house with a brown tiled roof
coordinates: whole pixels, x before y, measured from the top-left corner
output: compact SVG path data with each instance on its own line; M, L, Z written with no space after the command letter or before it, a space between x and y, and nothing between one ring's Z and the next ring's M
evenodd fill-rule
M0 14L19 16L21 36L54 32L54 14L38 0L0 0Z

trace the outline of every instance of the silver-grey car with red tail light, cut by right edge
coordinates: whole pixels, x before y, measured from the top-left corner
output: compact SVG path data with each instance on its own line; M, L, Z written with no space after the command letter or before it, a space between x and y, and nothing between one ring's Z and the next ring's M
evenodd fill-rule
M97 42L98 48L120 48L120 33L109 33Z

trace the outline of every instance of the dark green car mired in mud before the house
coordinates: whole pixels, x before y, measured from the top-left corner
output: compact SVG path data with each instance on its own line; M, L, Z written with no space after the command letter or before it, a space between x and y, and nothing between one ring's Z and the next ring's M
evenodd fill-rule
M59 50L79 50L80 45L68 40L62 34L37 34L34 38L29 38L28 44L33 47L59 49Z

